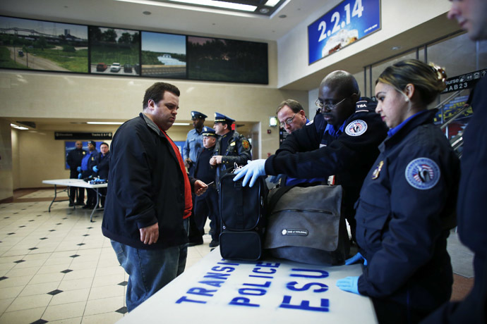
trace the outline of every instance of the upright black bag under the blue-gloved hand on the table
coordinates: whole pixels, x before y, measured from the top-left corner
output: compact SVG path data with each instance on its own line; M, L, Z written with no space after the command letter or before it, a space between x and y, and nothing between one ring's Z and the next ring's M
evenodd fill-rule
M259 177L253 187L243 187L235 174L220 179L219 201L222 232L220 254L229 260L255 261L262 256L267 185Z

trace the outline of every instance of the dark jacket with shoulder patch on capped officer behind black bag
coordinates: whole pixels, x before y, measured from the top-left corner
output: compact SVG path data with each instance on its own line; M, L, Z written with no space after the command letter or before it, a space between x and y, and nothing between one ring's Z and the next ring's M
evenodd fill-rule
M231 131L218 137L213 155L222 156L222 163L217 165L217 177L215 180L215 184L217 184L220 181L220 177L224 175L225 170L233 169L235 163L239 166L244 166L248 160L252 159L251 144L244 135Z

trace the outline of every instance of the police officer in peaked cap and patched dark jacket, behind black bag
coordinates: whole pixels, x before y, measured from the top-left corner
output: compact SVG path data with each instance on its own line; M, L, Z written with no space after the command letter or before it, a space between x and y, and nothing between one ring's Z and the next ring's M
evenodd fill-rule
M251 160L251 144L244 135L232 130L234 119L215 113L215 132L220 135L215 146L213 157L210 164L217 168L215 183L218 186L220 178L230 170L234 169L235 164L243 166Z

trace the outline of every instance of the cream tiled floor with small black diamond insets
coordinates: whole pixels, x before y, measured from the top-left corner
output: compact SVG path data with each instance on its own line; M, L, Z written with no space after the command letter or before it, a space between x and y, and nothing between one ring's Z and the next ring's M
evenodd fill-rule
M40 189L0 204L0 324L115 323L128 276L102 235L102 212L90 223L90 211L63 201L49 213L49 197L53 189ZM186 267L210 252L203 240Z

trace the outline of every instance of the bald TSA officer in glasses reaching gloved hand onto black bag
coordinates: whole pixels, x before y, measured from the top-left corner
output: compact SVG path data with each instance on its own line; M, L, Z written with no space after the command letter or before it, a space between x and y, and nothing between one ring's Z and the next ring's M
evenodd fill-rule
M387 126L375 113L375 102L360 97L354 76L345 71L323 79L316 105L320 113L313 122L291 132L275 155L237 170L234 180L244 177L243 185L250 180L252 186L260 175L331 177L329 182L344 189L342 214L354 239L354 203L387 136Z

